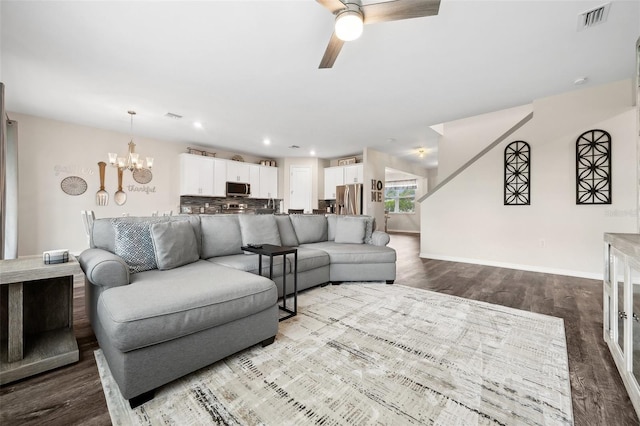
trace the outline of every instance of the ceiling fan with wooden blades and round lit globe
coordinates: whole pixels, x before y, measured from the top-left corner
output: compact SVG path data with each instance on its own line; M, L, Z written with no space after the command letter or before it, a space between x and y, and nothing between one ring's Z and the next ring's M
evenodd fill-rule
M399 21L438 14L440 0L392 0L362 5L360 0L316 0L336 15L327 50L318 68L331 68L345 41L362 34L364 24Z

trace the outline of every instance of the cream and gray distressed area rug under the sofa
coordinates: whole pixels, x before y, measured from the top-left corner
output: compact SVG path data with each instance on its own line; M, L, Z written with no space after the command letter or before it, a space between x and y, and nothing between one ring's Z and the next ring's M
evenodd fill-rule
M562 319L425 290L301 293L257 345L132 410L95 352L115 425L571 425Z

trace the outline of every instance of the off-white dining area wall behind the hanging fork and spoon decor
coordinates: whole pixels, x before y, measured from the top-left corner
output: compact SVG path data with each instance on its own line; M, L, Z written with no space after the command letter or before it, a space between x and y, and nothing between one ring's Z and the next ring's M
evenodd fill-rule
M136 152L154 157L153 180L140 185L131 172L124 172L123 189L127 201L118 206L113 201L117 190L117 171L107 166L105 187L109 204L97 206L96 192L100 182L98 162L108 162L108 152L126 153L130 136L124 133L79 126L25 114L8 113L18 122L18 255L40 254L44 250L67 248L79 252L88 247L80 210L94 210L96 217L130 215L149 216L154 211L172 210L178 213L179 160L193 144L134 137ZM220 158L234 154L215 148L207 151ZM247 162L259 158L242 154ZM278 164L280 165L280 164ZM67 176L79 176L87 191L79 196L65 194L61 181ZM132 191L129 185L133 185ZM141 189L150 190L141 191Z

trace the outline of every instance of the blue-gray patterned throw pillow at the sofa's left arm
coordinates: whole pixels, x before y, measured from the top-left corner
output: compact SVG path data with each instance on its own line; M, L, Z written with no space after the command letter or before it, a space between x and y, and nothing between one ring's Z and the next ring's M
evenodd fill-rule
M129 265L132 274L158 269L151 239L151 225L162 221L162 218L143 222L111 219L116 232L115 252Z

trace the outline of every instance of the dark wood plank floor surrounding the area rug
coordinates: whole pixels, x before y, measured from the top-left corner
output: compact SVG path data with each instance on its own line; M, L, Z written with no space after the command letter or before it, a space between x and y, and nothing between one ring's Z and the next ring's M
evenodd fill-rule
M419 237L393 234L396 283L563 318L577 426L638 425L602 340L602 283L488 266L420 259ZM74 295L80 361L0 387L2 425L108 425L93 357L95 336L84 313L84 290Z

